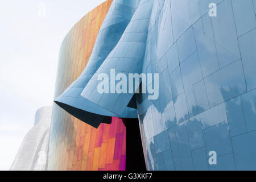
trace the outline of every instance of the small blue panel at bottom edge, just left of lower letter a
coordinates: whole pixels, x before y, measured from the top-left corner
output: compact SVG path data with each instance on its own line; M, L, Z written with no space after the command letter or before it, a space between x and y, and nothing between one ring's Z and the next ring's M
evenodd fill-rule
M193 158L193 165L195 167L195 170L197 171L208 170L207 156L205 154L204 147L191 151L191 155Z

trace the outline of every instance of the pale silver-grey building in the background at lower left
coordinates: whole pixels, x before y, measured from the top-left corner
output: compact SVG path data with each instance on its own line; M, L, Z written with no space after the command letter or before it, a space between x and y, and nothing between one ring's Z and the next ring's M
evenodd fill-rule
M28 131L19 148L11 171L45 171L48 162L52 106L38 109L34 127Z

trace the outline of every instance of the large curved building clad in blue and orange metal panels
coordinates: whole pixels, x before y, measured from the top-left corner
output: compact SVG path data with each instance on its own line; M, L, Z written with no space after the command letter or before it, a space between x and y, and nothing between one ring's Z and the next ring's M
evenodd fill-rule
M61 46L48 169L255 170L255 11L254 0L114 0L84 16ZM156 75L140 88L158 97L130 93L134 73Z

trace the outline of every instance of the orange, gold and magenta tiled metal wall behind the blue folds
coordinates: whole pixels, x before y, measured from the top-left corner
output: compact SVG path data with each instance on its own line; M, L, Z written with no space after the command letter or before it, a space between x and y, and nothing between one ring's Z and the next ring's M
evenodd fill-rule
M60 49L55 98L84 70L112 0L86 14L65 37ZM48 170L125 169L126 127L121 119L98 129L53 105Z

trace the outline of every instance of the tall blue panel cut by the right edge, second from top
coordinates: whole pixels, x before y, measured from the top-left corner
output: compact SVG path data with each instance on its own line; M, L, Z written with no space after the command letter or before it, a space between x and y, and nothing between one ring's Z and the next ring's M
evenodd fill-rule
M256 29L239 38L247 90L256 88Z

